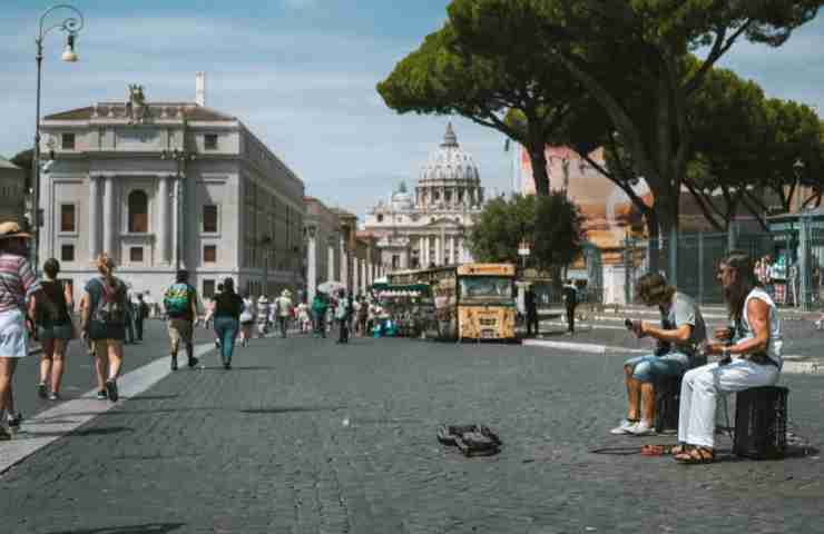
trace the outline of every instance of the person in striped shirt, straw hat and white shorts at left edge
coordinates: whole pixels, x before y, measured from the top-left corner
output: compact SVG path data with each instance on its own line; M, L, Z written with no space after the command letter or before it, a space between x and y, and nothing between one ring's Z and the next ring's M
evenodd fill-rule
M14 412L12 379L20 358L29 355L26 303L41 290L26 258L30 238L17 222L0 224L0 441L10 439L22 419Z

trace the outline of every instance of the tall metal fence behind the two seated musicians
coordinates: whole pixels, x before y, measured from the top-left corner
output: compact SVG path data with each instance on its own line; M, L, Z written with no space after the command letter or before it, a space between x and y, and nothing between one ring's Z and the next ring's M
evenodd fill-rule
M626 301L635 300L635 281L649 271L653 254L658 267L668 270L670 239L627 239L624 254ZM716 279L718 264L728 250L738 249L753 258L772 256L776 265L767 289L779 306L803 310L820 309L824 300L824 226L801 217L769 233L698 233L678 238L677 269L679 290L700 304L723 304L722 288Z

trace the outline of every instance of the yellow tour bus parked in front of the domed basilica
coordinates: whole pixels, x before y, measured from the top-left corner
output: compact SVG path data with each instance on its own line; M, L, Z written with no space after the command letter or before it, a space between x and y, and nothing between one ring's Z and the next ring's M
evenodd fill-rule
M514 340L516 268L512 264L465 264L405 270L392 284L429 284L442 339Z

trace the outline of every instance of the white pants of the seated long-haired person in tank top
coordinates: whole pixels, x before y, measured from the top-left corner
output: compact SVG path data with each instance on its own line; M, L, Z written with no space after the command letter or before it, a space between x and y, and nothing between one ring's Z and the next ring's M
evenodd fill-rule
M773 386L776 382L776 366L758 365L747 359L736 359L720 366L717 363L708 364L688 370L681 380L678 441L712 448L718 394Z

